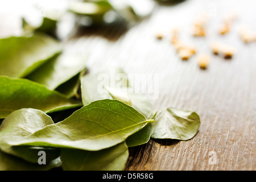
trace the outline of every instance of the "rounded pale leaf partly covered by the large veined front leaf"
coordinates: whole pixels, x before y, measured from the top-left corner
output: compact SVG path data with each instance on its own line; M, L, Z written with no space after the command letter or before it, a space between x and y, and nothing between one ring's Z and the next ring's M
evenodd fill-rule
M11 146L6 141L22 139L26 135L35 133L47 125L54 124L51 117L36 109L20 109L6 117L0 126L0 149L27 160L38 162L38 152L43 150L47 155L47 162L60 156L60 151L55 148Z

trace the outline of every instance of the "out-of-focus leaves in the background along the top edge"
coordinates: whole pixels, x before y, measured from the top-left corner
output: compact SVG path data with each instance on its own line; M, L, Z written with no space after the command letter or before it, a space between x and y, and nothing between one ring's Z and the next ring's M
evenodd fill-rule
M37 17L36 21L32 19L32 22L30 16L23 17L22 28L24 35L43 32L63 39L73 34L77 27L104 27L113 24L128 27L149 16L153 9L154 3L150 0L70 1L67 6L60 6L58 10L40 7L42 15Z

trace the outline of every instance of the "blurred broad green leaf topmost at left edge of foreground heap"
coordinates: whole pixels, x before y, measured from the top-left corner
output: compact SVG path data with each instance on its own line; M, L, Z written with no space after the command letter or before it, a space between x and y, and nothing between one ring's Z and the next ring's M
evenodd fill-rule
M44 34L0 39L0 75L26 77L49 58L61 52L61 45Z

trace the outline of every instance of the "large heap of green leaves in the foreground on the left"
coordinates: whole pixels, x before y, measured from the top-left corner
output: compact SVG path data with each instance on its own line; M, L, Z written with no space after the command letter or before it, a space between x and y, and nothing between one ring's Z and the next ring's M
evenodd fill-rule
M195 112L155 111L122 69L85 74L86 57L65 50L43 27L0 39L0 170L122 170L129 147L196 135ZM102 74L114 87L98 80ZM46 164L39 163L42 151Z

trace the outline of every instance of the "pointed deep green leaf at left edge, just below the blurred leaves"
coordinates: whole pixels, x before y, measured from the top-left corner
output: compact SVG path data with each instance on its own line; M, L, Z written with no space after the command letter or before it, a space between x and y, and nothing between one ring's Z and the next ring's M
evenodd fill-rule
M82 105L79 101L68 99L59 92L24 78L0 76L0 85L0 118L21 108L50 113Z

